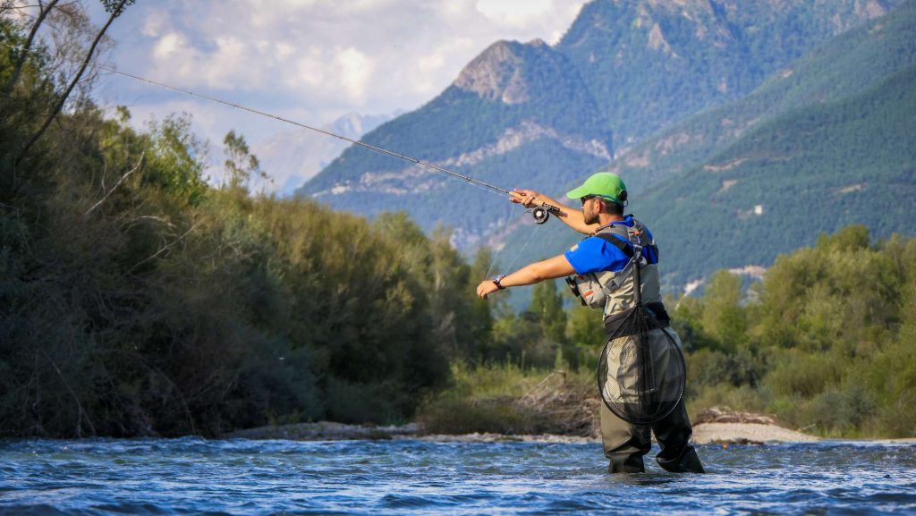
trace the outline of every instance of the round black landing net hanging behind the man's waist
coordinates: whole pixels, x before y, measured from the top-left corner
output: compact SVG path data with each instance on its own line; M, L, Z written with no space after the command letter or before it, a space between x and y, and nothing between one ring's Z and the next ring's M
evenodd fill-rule
M656 423L681 401L686 369L671 330L641 303L618 320L598 362L607 408L633 424Z

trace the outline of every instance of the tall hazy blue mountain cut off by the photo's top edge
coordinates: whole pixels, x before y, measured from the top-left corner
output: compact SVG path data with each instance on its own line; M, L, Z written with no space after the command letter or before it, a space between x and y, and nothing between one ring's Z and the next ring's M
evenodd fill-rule
M743 97L826 38L900 1L595 1L562 38L624 148Z

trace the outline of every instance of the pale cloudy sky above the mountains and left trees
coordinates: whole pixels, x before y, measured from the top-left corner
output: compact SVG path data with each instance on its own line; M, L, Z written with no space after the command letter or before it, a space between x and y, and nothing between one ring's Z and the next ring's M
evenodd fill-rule
M93 20L105 13L89 2ZM322 126L431 100L498 39L554 43L584 0L140 0L115 20L121 70ZM97 91L135 121L184 111L220 154L229 129L249 143L289 126L110 76ZM321 136L316 136L321 137Z

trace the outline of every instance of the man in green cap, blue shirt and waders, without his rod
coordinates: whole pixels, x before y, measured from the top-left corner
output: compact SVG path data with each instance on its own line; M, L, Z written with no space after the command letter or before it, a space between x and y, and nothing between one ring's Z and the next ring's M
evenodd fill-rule
M650 432L653 432L661 448L656 456L661 467L671 472L703 473L700 458L690 445L693 431L682 398L682 373L680 392L668 399L670 406L659 412L659 418L646 419L643 421L651 423L640 424L630 423L639 422L638 418L627 417L627 414L632 413L627 412L627 407L639 406L639 401L646 399L646 392L650 393L648 396L658 395L661 380L657 380L656 377L661 377L663 371L667 370L662 367L674 363L671 360L672 356L680 357L682 364L680 338L669 326L669 317L661 302L658 251L651 233L632 215L624 215L627 187L614 173L598 172L589 177L582 186L566 195L570 199L579 199L582 202L582 210L569 208L531 190L516 190L510 200L529 208L550 205L554 208L551 212L563 223L589 237L562 255L531 263L511 274L481 282L477 286L477 295L486 299L489 294L508 287L573 277L583 302L587 301L590 306L603 309L605 329L609 338L602 360L604 362L606 357L607 361L613 364L612 369L615 371L629 367L626 364L621 366L624 362L622 357L626 353L620 352L615 355L616 348L611 346L621 340L616 338L621 335L621 320L635 306L645 306L652 314L653 322L645 330L648 335L646 346L652 350L663 349L667 339L671 346L678 346L678 349L674 350L676 353L666 355L663 363L659 362L662 359L659 357L663 354L653 351L652 353L656 353L651 355L655 357L654 360L649 358L646 362L648 368L645 364L640 365L641 369L638 369L636 375L605 375L611 379L610 388L602 387L605 403L601 404L602 442L605 456L610 459L608 471L645 471L643 456L649 453L652 444ZM637 281L638 290L635 288ZM583 288L588 290L582 291ZM625 336L626 333L623 332ZM608 353L609 349L611 353ZM651 369L653 365L654 371ZM603 381L602 370L599 369L599 384ZM633 378L637 378L638 381L631 381ZM647 381L655 383L647 387ZM617 401L624 402L615 404L608 401L615 399L614 393ZM623 409L612 412L608 404Z

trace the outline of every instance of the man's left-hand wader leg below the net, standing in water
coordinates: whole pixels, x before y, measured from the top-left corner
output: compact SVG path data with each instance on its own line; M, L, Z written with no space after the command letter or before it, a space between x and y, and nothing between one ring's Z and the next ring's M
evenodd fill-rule
M601 404L601 440L605 456L611 460L610 473L642 473L642 456L652 448L648 426L636 426L618 418Z

